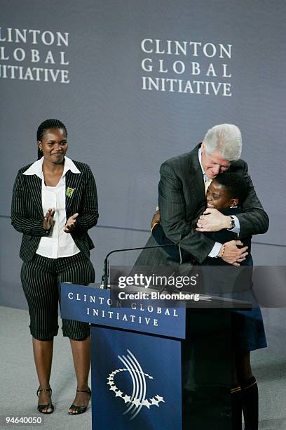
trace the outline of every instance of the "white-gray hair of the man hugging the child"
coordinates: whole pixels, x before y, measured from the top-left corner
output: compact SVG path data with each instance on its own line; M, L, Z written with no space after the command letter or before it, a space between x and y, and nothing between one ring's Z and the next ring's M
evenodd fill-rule
M203 141L207 154L219 151L222 158L227 161L236 161L240 158L243 141L240 129L234 124L213 126L207 131Z

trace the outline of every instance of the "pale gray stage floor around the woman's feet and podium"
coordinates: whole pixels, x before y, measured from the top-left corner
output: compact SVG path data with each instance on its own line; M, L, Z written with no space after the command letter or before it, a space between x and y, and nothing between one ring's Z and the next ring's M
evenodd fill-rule
M268 348L252 353L252 370L259 384L259 429L284 430L286 429L286 337L284 330L283 339L281 327L275 324L275 321L283 320L282 313L286 314L286 311L268 309L263 313ZM44 419L44 425L40 428L45 430L91 429L91 405L88 411L79 417L67 415L69 405L74 400L76 379L69 340L62 337L61 330L55 338L50 380L55 412L51 415L43 415L36 410L38 382L28 326L27 311L0 306L0 415L41 416ZM5 428L18 429L19 426ZM34 426L24 428L32 429Z

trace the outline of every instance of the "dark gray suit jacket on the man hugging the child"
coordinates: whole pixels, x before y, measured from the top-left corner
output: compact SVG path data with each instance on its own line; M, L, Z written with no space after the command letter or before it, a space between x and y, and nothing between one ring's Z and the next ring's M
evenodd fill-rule
M161 224L165 235L172 242L181 242L181 247L203 261L214 246L214 241L203 233L194 230L198 216L205 209L205 185L198 160L197 145L191 152L168 159L160 169L161 179L158 185ZM268 229L268 216L255 193L247 163L242 159L231 163L229 171L240 174L248 186L247 199L243 204L243 213L238 214L240 235L256 235ZM156 245L150 237L146 246ZM162 249L144 250L138 257L137 266L176 265Z

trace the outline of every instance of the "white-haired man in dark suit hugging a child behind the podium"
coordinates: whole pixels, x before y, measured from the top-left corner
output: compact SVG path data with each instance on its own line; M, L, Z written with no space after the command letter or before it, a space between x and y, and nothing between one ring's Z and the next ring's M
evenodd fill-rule
M240 159L242 139L240 130L233 124L220 124L207 131L203 143L191 152L168 159L160 169L158 202L161 224L165 235L203 261L207 256L222 254L222 244L201 234L229 228L238 238L265 233L268 216L255 193L247 163ZM224 216L211 207L205 211L205 188L219 173L232 171L245 178L248 193L243 213ZM203 214L204 211L204 214ZM203 215L202 215L203 214ZM196 226L197 223L197 226ZM197 227L197 228L195 228ZM147 246L156 245L152 237ZM245 260L247 249L240 240L224 245L222 259L235 266ZM140 254L136 266L176 265L162 249L146 249Z

